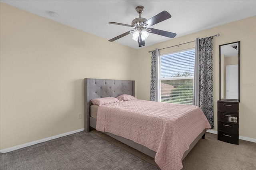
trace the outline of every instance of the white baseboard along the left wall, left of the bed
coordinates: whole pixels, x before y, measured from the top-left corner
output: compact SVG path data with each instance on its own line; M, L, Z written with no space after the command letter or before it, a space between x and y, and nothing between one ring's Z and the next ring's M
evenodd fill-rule
M33 142L28 142L28 143L20 144L20 145L13 146L13 147L10 147L10 148L2 149L2 150L0 150L0 153L11 152L11 151L14 151L14 150L17 150L17 149L25 148L25 147L27 147L27 146L31 146L31 145L34 145L34 144L46 142L46 141L48 141L48 140L60 138L60 137L63 137L63 136L67 136L67 135L69 135L69 134L81 132L81 131L83 131L83 130L84 130L84 128L80 128L80 129L78 129L78 130L74 130L74 131L71 131L71 132L66 132L66 133L58 134L58 135L56 135L56 136L51 136L51 137L44 138L44 139L40 139L40 140L36 140L36 141L33 141Z

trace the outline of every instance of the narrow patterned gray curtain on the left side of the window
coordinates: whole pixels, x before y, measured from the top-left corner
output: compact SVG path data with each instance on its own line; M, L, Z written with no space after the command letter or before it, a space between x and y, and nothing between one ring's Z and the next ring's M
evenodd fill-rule
M158 101L158 49L152 51L150 101Z

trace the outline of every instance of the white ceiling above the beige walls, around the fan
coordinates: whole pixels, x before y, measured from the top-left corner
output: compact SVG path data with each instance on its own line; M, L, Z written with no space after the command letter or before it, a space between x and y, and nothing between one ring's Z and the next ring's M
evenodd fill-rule
M133 19L139 17L135 11L136 6L144 6L145 10L141 17L146 19L164 10L169 12L172 18L152 28L174 32L177 34L175 38L256 16L256 0L0 0L0 2L105 38L106 41L132 30L108 22L130 25ZM50 16L50 11L56 12L58 17ZM145 40L145 46L167 40L170 38L150 34ZM131 34L115 42L135 49L142 48L138 47L138 42L132 40Z

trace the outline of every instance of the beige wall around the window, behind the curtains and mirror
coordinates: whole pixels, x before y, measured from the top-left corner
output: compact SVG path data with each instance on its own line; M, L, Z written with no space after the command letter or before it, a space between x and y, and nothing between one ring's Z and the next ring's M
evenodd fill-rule
M214 65L214 123L217 130L217 101L219 99L219 45L240 41L240 105L239 105L239 134L241 136L256 138L256 16L232 22L188 36L144 47L137 51L136 60L136 97L150 99L150 65L151 53L156 48L161 49L195 40L197 37L205 38L220 34L213 40ZM160 50L160 54L194 47L195 43L180 45Z

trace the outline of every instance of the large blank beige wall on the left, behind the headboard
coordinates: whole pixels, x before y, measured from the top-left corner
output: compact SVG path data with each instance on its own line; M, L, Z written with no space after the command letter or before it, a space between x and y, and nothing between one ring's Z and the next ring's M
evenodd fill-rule
M135 49L3 3L0 12L0 149L84 128L84 78L133 79Z

